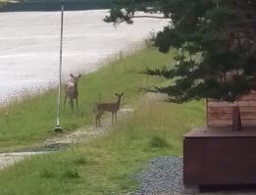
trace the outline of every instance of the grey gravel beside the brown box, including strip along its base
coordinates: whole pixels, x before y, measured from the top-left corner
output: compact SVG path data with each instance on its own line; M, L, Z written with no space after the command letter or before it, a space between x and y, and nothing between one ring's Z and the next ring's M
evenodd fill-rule
M131 176L141 182L139 188L128 195L255 195L255 188L214 189L199 192L197 188L184 187L182 181L182 157L157 157L144 164L145 170Z

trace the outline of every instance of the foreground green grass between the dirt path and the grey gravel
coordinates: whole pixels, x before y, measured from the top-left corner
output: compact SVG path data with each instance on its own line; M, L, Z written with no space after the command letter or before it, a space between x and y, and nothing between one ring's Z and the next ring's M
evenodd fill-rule
M150 158L182 151L182 135L204 119L203 102L175 105L142 101L108 134L71 149L32 157L0 171L1 195L126 194L129 175Z

